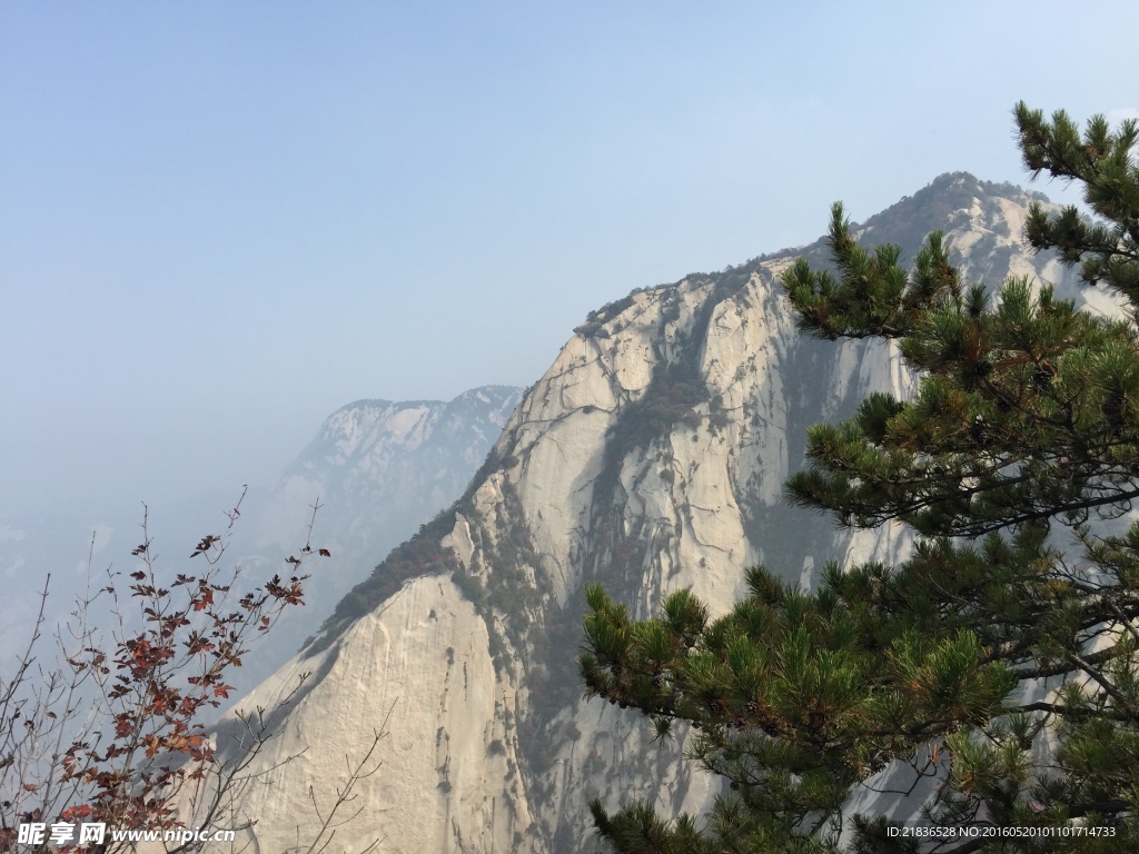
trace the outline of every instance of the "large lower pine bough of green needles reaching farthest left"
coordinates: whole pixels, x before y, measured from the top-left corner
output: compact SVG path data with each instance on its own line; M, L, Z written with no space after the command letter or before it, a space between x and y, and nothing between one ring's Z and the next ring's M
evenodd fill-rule
M880 567L833 569L809 597L755 567L751 596L711 623L687 591L661 618L636 623L593 586L579 659L587 690L652 715L662 736L674 721L693 723L689 754L731 782L708 823L734 827L741 851L805 836L803 851L825 851L852 786L945 721L983 726L1016 682L1005 667L978 667L982 643L968 631L949 622L933 637L921 631L920 597L915 613L888 622L847 598L886 577ZM896 596L911 601L908 592Z

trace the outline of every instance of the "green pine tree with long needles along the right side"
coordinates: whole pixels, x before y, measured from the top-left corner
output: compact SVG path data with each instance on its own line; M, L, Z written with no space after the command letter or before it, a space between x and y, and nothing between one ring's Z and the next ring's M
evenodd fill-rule
M966 286L939 233L907 270L835 205L836 272L800 260L782 279L800 328L892 339L919 384L812 427L787 493L850 527L904 523L917 545L830 565L810 594L755 567L718 619L686 591L637 622L588 590L587 695L661 738L686 724L727 782L703 819L592 804L614 851L1139 851L1139 523L1112 527L1139 498L1139 129L1081 133L1024 104L1015 120L1027 169L1082 184L1096 215L1034 205L1026 238L1125 311ZM906 764L928 793L915 820L942 836L844 812Z

